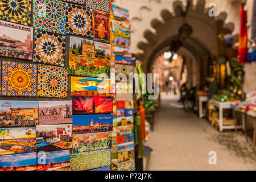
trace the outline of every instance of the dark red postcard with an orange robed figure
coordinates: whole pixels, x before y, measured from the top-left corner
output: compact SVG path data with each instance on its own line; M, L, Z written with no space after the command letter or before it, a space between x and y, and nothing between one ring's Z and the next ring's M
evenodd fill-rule
M109 13L93 10L93 40L110 43Z

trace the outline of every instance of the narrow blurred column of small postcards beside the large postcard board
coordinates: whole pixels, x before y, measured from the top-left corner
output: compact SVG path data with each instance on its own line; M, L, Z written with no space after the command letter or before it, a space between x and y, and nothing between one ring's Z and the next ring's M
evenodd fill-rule
M112 3L110 10L112 60L115 74L133 73L129 11ZM113 80L114 81L114 80ZM123 93L131 89L131 93ZM112 132L112 170L135 170L133 84L115 80ZM122 93L120 93L122 92Z

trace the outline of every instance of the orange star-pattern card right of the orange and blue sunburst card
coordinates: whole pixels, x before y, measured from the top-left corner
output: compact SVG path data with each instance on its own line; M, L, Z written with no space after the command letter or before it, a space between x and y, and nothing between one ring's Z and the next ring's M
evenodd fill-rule
M68 68L38 65L38 97L68 97Z

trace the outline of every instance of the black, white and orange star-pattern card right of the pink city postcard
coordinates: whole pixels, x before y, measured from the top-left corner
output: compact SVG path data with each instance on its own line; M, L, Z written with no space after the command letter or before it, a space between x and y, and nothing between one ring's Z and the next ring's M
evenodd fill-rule
M65 35L35 30L34 61L64 67Z

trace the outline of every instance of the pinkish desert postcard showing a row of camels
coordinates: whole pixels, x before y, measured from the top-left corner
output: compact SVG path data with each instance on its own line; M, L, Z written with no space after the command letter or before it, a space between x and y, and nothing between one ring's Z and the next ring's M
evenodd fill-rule
M72 123L72 101L39 101L39 125Z

